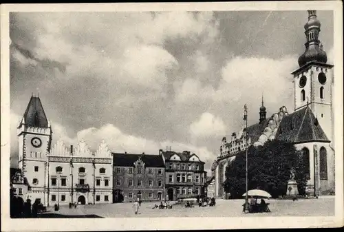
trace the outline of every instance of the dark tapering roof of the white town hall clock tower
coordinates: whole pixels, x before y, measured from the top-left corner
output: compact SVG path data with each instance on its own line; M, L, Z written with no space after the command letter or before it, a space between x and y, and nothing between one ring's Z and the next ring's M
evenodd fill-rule
M30 127L48 127L47 117L39 97L31 96L23 118L25 125Z

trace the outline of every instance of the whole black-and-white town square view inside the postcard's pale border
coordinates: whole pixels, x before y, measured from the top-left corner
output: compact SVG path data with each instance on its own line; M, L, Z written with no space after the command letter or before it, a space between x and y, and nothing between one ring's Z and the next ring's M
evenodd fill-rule
M336 216L314 9L10 12L8 218Z

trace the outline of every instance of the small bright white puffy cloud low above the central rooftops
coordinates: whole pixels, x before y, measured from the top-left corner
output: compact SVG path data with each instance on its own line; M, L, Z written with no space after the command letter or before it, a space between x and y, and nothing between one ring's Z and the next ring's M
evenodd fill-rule
M191 135L196 137L221 136L225 129L222 119L208 112L203 113L189 128Z

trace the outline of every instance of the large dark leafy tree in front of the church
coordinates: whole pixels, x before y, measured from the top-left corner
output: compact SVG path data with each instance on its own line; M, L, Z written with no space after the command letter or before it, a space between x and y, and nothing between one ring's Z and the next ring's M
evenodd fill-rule
M291 143L279 140L267 141L264 146L248 149L248 189L268 191L272 198L287 192L292 168L295 180L303 180L300 152ZM233 198L242 198L246 191L245 152L237 155L226 169L224 189Z

